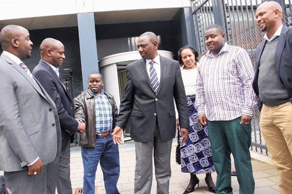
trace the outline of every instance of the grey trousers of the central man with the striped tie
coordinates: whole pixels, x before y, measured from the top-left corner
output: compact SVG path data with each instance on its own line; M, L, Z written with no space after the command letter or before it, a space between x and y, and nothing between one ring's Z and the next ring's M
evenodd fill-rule
M162 141L156 127L150 142L135 141L136 168L134 180L135 194L150 194L152 185L152 156L154 157L157 194L168 194L171 177L170 153L172 140ZM154 149L154 154L153 154Z

